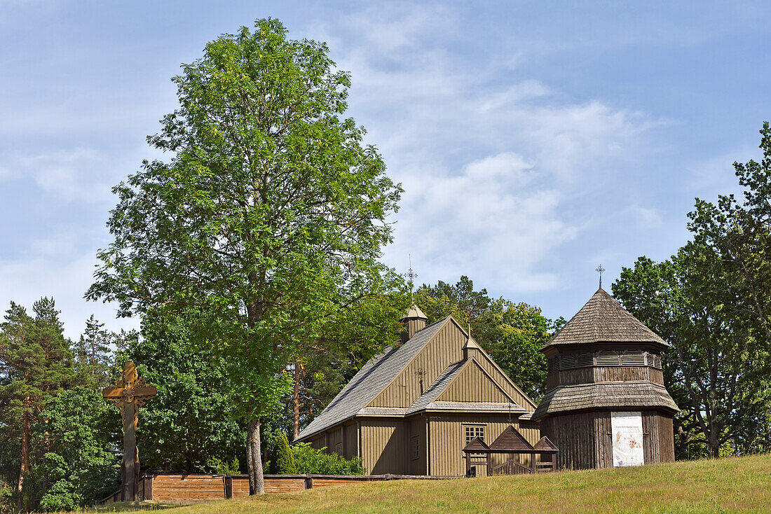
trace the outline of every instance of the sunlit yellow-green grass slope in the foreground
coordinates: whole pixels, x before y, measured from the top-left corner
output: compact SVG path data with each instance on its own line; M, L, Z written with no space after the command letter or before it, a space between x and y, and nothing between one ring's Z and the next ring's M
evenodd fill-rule
M138 507L163 509L163 514L771 512L771 455L537 476L369 482L192 506Z

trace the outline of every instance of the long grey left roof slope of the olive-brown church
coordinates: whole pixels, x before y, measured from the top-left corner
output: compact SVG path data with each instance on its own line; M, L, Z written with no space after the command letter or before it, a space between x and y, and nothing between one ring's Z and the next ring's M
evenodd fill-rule
M298 440L322 432L332 425L337 425L355 415L359 409L364 408L372 398L375 398L375 395L391 383L399 371L402 371L402 368L449 319L449 317L445 317L443 320L436 321L423 330L417 331L412 339L401 346L388 348L371 358L342 388L342 391L329 402L322 413L300 432Z

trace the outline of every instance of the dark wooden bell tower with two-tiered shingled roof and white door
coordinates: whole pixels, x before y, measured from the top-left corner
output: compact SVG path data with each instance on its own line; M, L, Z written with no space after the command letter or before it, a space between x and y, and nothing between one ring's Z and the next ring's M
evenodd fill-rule
M559 469L675 460L667 347L602 288L544 344L547 393L532 418L559 448Z

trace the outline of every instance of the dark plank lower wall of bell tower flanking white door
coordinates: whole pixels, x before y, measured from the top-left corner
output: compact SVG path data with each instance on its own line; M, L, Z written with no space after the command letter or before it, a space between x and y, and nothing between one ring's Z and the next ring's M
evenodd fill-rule
M641 413L645 464L674 462L672 416L650 410ZM550 416L541 422L541 432L560 449L557 454L559 469L613 467L611 411Z

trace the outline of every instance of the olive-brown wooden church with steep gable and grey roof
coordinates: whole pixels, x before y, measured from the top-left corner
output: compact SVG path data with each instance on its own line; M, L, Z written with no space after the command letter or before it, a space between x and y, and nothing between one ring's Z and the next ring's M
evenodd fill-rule
M403 475L463 475L463 448L474 440L491 445L511 428L537 445L537 425L520 420L534 401L453 317L426 321L418 307L409 309L401 344L367 362L298 441L358 455L369 474ZM518 458L529 464L530 456Z

